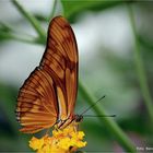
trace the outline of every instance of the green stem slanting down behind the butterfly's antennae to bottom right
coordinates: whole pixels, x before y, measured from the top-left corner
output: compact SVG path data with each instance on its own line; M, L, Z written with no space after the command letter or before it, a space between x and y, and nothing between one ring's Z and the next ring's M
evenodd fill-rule
M83 85L81 81L79 82L79 91L82 97L85 98L90 105L93 105L94 102L96 102L96 99L92 96L92 94L89 92L89 90ZM103 107L99 108L97 105L95 105L93 109L97 116L106 116L106 113ZM131 140L111 118L99 117L99 120L105 123L106 128L116 137L118 142L121 144L121 146L125 148L126 151L128 152L136 151L136 146L133 145Z

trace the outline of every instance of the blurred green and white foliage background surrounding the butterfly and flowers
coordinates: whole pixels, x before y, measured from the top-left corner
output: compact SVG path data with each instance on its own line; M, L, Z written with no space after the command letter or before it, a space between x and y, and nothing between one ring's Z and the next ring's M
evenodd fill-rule
M59 14L75 33L80 86L89 94L79 89L75 113L106 95L86 114L116 115L84 117L82 151L153 152L153 2L123 0L0 0L0 152L31 151L32 136L19 132L16 96L40 61L49 21Z

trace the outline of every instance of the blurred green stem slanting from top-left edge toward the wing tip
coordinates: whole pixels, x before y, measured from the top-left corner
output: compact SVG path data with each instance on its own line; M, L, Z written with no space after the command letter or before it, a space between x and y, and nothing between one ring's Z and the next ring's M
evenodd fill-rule
M16 7L16 9L23 14L23 16L30 21L30 23L33 25L39 37L45 39L45 31L42 28L38 21L31 13L28 13L16 0L13 0L12 2Z

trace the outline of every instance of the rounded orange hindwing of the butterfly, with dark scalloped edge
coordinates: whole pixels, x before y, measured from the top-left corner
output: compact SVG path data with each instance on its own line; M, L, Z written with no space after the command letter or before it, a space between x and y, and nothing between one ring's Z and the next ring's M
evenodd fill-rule
M37 69L24 82L17 97L16 114L23 132L36 132L56 123L57 98L52 79L46 71Z

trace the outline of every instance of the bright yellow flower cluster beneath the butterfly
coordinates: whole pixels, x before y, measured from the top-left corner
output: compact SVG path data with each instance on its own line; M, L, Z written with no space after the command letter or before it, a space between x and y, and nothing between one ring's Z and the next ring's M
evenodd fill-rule
M54 129L52 137L33 137L30 146L37 153L72 153L86 145L86 142L82 141L83 137L83 131L76 131L74 126L70 125L64 129Z

